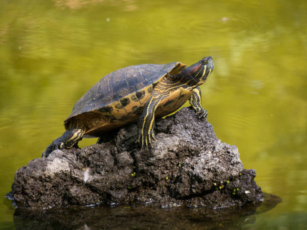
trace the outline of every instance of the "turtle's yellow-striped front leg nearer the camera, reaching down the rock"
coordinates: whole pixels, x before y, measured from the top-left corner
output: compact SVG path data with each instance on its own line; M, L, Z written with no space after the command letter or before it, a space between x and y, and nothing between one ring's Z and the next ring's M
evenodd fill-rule
M141 145L141 149L148 149L152 147L151 138L156 140L154 133L155 126L155 111L159 105L159 102L166 98L167 95L161 94L161 91L157 88L152 91L151 96L144 106L142 115L140 116L138 127L138 142Z

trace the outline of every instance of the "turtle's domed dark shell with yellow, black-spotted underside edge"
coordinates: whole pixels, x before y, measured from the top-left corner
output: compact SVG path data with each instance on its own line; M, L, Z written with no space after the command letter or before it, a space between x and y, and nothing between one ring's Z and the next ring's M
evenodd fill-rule
M99 136L101 131L137 120L152 88L166 74L177 75L185 67L180 62L142 64L107 74L76 102L65 128L81 125L85 135Z

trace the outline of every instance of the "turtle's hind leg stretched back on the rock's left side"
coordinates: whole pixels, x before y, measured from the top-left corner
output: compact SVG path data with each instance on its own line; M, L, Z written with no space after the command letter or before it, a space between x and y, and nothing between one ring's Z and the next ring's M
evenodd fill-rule
M42 157L48 157L49 154L56 149L71 148L82 138L84 129L66 130L62 136L55 139L42 153Z

